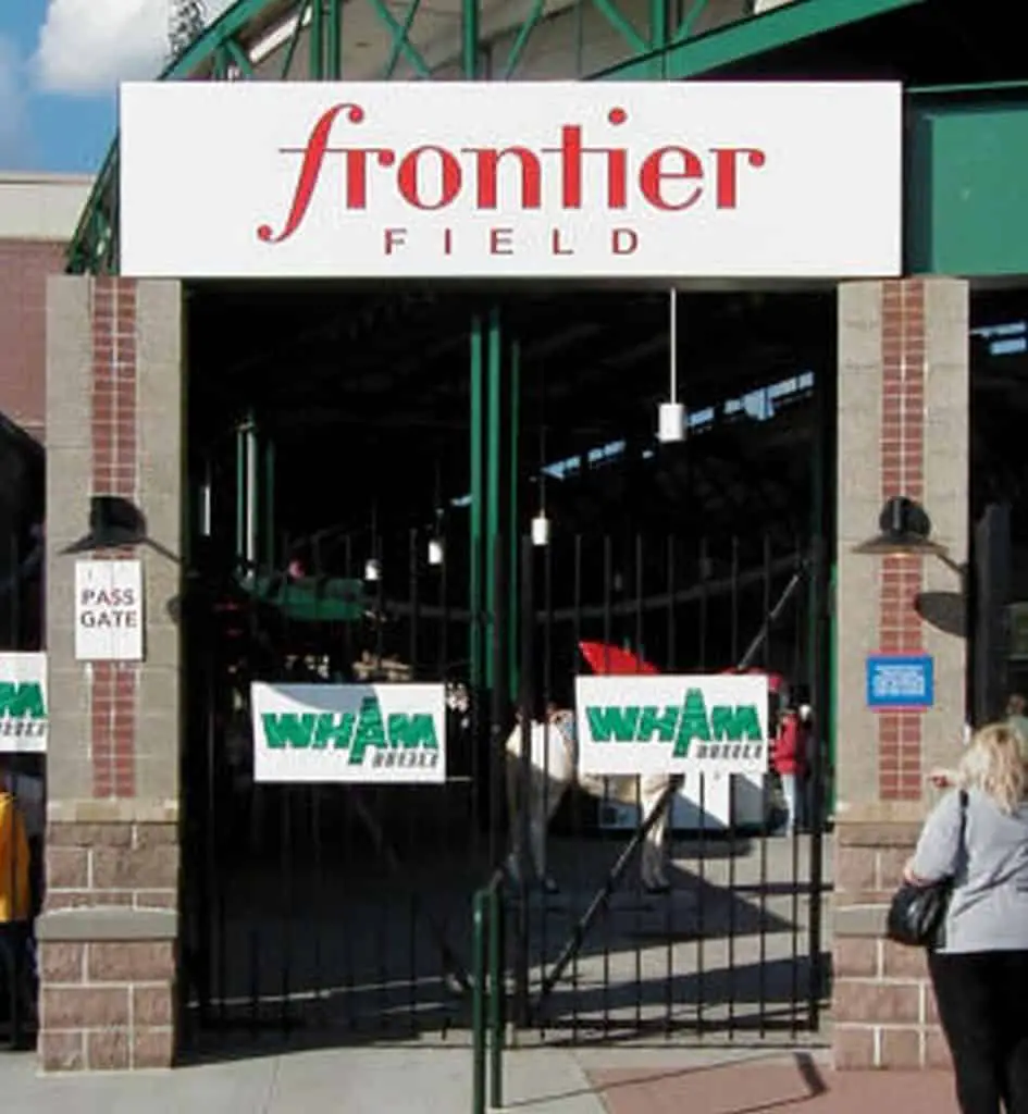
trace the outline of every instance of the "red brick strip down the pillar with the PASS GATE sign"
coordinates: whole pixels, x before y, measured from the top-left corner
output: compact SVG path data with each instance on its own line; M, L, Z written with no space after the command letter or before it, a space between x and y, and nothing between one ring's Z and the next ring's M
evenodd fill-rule
M92 287L92 492L134 502L139 478L136 344L135 282L97 278ZM94 666L94 797L135 795L138 674L135 663L98 662Z

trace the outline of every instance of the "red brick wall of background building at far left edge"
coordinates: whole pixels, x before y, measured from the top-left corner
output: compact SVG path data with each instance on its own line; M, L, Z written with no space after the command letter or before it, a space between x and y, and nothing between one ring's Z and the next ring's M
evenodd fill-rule
M47 277L65 270L63 246L0 241L0 413L45 438Z

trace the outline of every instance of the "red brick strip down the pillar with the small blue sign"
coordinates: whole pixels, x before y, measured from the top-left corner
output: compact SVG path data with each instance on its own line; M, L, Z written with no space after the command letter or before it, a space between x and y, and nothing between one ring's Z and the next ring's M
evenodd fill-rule
M882 283L882 501L924 495L924 284ZM879 647L883 653L919 653L921 619L914 598L923 587L923 559L882 560ZM919 800L922 792L921 716L879 716L879 790L883 800Z

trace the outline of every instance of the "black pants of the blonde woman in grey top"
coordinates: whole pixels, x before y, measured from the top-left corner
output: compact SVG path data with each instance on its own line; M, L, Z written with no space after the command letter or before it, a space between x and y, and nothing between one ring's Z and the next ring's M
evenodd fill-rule
M1028 1114L1028 951L932 952L928 965L962 1114Z

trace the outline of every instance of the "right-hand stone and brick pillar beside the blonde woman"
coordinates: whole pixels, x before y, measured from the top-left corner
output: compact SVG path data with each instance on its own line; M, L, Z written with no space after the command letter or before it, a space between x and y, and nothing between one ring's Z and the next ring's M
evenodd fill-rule
M968 556L968 286L853 283L839 294L838 809L833 911L836 1066L948 1062L923 956L882 939L884 912L934 800L928 770L959 755L963 639L922 622L921 592L959 593L933 557L865 556L892 496L921 502L932 538ZM929 654L927 711L867 706L869 654Z

